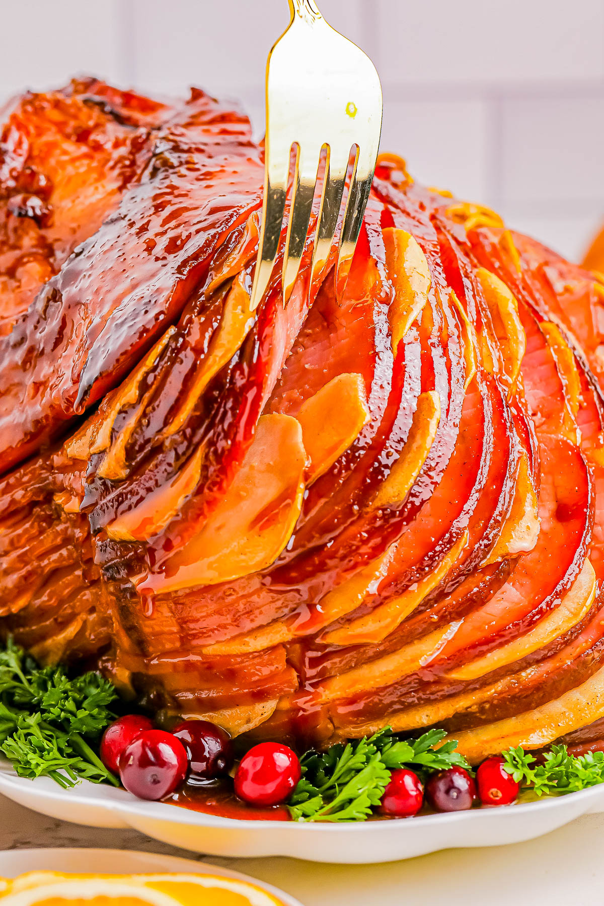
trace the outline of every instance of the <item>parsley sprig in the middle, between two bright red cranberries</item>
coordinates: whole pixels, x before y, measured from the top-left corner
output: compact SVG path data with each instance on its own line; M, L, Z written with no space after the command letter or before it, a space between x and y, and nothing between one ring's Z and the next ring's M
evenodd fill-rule
M390 728L372 737L301 758L302 778L289 802L294 821L366 821L379 805L391 772L413 766L419 774L455 765L468 768L455 740L436 748L445 730L428 730L418 739L401 739Z

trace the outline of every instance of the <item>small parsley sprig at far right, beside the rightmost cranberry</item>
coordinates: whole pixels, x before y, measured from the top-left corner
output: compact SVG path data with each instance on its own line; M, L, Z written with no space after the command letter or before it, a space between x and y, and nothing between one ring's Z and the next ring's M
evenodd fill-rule
M523 747L503 752L503 767L523 790L532 794L577 793L604 782L604 752L570 755L566 746L552 746L538 762Z

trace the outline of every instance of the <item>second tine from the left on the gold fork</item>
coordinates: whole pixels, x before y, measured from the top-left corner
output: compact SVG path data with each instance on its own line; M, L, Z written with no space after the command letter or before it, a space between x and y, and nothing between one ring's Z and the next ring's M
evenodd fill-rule
M296 173L292 192L292 205L285 240L287 251L283 256L283 298L288 299L295 283L302 252L311 220L312 199L317 182L320 151L313 154L312 146L298 146Z

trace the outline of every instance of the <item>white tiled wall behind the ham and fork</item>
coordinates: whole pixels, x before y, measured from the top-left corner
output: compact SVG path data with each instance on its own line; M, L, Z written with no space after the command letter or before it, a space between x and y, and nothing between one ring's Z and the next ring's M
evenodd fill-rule
M319 0L382 78L382 147L578 257L604 220L604 0ZM5 0L0 99L91 72L240 97L258 130L286 0Z

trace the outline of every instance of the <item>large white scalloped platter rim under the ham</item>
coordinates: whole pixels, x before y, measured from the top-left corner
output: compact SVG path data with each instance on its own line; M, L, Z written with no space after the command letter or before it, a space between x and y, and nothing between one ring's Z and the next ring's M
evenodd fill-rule
M450 847L521 843L548 834L581 814L604 812L604 784L523 805L359 824L221 818L177 805L145 802L125 790L87 781L63 790L49 777L18 777L9 766L0 767L0 793L53 818L91 827L134 827L163 843L196 853L288 855L331 863L391 862Z

